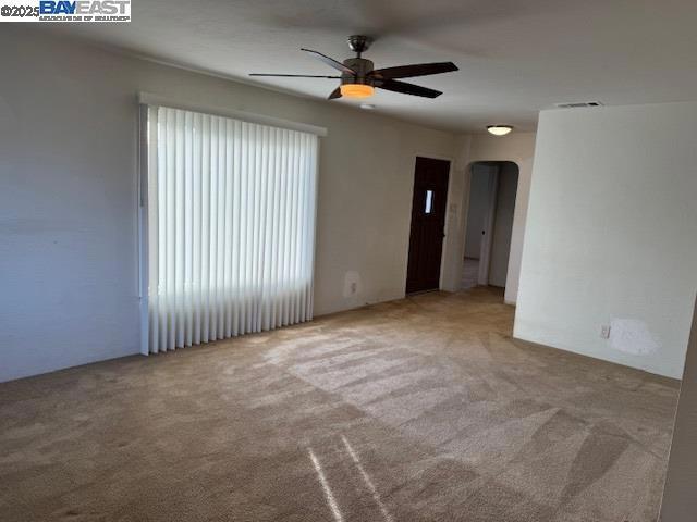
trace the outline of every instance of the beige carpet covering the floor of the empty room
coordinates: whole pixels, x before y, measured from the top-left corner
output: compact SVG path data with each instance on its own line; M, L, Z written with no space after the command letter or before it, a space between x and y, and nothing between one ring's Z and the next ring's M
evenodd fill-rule
M478 288L0 385L2 521L649 522L677 384Z

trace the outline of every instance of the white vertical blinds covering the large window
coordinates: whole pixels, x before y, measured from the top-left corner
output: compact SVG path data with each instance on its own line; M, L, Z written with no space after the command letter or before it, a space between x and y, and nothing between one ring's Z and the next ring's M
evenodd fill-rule
M147 108L147 322L156 353L313 315L317 136Z

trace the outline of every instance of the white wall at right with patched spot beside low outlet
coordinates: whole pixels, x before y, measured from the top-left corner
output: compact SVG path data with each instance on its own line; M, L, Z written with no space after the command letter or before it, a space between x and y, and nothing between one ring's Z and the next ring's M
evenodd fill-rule
M697 289L695 122L697 103L540 114L516 337L682 375Z

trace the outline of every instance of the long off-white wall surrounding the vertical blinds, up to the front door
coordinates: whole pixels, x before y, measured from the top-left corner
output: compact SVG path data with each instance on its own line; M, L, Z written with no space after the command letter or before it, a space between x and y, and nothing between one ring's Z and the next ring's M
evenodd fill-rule
M316 314L404 295L415 157L453 157L452 135L5 26L0 381L138 352L140 90L328 128Z

